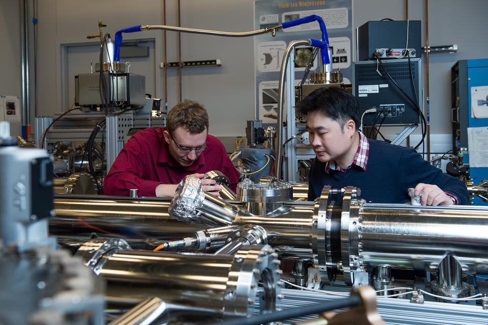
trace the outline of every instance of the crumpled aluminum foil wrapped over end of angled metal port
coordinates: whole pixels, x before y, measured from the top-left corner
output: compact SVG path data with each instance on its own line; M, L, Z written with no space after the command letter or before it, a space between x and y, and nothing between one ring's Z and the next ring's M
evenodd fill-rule
M202 182L194 176L186 176L179 183L169 204L169 215L178 221L198 221L200 212L197 210L203 206L205 194Z

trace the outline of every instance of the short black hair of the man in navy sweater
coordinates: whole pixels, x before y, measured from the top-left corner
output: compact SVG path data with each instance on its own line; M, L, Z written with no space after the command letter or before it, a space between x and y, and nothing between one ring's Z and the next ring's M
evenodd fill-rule
M344 132L344 125L353 120L356 131L359 129L359 105L350 92L341 87L322 87L314 90L298 103L297 108L303 115L320 111L339 123Z

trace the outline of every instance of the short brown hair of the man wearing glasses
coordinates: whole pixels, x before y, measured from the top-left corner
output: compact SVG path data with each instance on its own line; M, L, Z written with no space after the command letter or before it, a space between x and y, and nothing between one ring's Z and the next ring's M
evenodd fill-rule
M205 106L185 99L184 102L171 108L166 117L166 129L169 133L173 133L179 127L191 134L202 133L205 128L208 130L208 114Z

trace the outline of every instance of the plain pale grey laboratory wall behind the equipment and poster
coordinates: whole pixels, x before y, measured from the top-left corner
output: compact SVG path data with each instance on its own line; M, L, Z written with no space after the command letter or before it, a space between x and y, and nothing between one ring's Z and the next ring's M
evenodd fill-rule
M261 0L265 1L265 0ZM167 24L177 24L177 1L167 0ZM2 75L0 91L21 95L19 0L0 0L0 51ZM425 2L410 0L409 19L422 21L425 43ZM32 2L28 1L29 6ZM182 0L181 25L221 31L254 29L252 0ZM32 9L32 8L31 8ZM450 68L457 60L488 57L485 31L488 22L486 0L430 0L430 45L458 44L454 54L431 54L431 133L451 132ZM354 28L369 20L405 19L404 0L353 0ZM42 0L38 4L38 115L51 115L60 108L60 44L86 42L86 35L98 32L98 19L112 35L120 28L137 24L162 24L163 0ZM30 21L30 20L29 20ZM5 32L7 31L7 32ZM136 35L139 34L139 35ZM125 34L124 39L156 39L159 61L163 61L163 32ZM223 66L183 70L182 96L205 104L210 114L210 133L235 136L245 133L246 120L254 118L254 42L252 38L224 38L182 34L182 60L222 58ZM167 33L168 61L177 61L176 33ZM355 50L354 50L355 52ZM425 60L423 60L425 62ZM89 62L86 63L87 66ZM156 68L155 68L156 69ZM6 72L6 74L4 74ZM133 73L136 71L131 70ZM425 75L425 66L424 66ZM8 77L6 77L8 76ZM157 70L156 96L163 96L163 73ZM168 105L179 99L177 70L168 70ZM424 83L425 87L425 83ZM5 91L4 91L5 90ZM34 99L34 96L33 96ZM34 114L33 114L34 115ZM34 116L32 117L32 120ZM32 121L33 122L33 121ZM32 124L31 122L31 124Z

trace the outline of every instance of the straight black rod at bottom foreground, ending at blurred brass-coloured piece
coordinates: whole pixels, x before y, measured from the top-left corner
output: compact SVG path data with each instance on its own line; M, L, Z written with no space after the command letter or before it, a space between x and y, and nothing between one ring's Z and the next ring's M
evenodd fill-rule
M271 321L278 321L283 319L290 319L299 316L318 314L323 311L341 309L346 307L356 307L361 305L362 300L359 296L352 296L349 298L329 301L326 303L314 304L309 306L302 306L299 308L279 311L272 314L262 314L253 317L241 317L228 321L223 321L221 323L216 323L215 325L258 325L263 323L268 323Z

